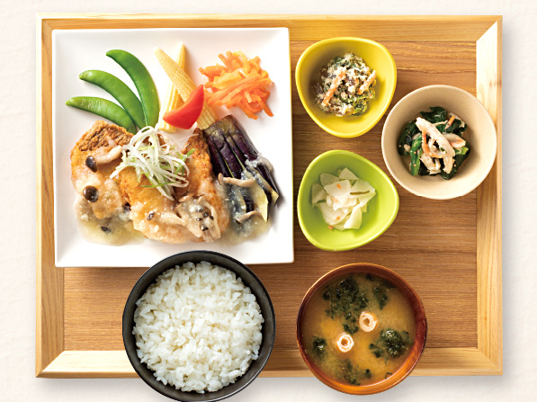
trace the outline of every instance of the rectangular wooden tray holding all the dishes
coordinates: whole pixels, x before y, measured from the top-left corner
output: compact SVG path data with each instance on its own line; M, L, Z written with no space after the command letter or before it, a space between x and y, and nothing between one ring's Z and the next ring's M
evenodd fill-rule
M394 269L421 296L429 332L414 375L502 373L501 17L41 14L37 25L37 376L135 377L121 340L121 313L144 271L54 265L52 31L274 26L290 29L293 76L300 54L314 41L337 36L380 41L398 66L391 105L421 86L461 87L488 108L499 147L485 182L460 199L425 200L397 186L398 218L383 236L357 250L318 250L295 219L295 263L252 267L271 294L278 323L273 354L262 375L310 375L295 337L300 300L322 274L354 262ZM386 117L360 138L336 138L311 121L294 83L292 87L295 200L309 162L329 149L354 151L387 172L380 152ZM450 219L440 218L445 211Z

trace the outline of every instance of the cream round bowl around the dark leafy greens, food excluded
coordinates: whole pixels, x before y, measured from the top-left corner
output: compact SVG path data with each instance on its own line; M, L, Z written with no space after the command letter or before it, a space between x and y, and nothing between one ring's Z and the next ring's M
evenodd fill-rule
M408 159L398 154L398 138L404 126L415 120L419 112L428 112L434 106L456 114L468 126L464 138L471 152L451 180L439 175L413 176L408 170ZM434 200L448 200L468 194L485 180L496 159L497 132L487 109L474 95L454 86L430 85L407 94L389 112L381 147L389 173L407 191Z

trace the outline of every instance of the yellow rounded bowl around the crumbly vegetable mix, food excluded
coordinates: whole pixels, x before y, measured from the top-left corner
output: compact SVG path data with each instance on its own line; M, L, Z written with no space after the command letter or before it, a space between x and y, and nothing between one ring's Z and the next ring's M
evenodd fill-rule
M318 72L332 58L353 52L377 71L375 99L366 112L358 116L336 116L322 111L315 103L311 84L319 80ZM397 67L388 49L374 40L333 38L321 40L304 50L295 70L295 80L304 109L318 126L337 137L353 138L371 130L388 110L397 83Z

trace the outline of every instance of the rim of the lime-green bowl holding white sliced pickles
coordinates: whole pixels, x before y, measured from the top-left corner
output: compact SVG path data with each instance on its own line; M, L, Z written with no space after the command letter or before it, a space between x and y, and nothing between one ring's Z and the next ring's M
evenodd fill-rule
M309 233L309 229L307 228L306 222L302 218L301 210L303 208L303 205L302 205L303 201L301 201L301 200L304 197L304 192L307 191L302 184L304 183L304 177L306 176L306 174L308 174L311 171L313 165L317 164L319 160L322 160L324 158L327 158L327 157L330 157L330 156L333 156L333 155L338 155L338 154L345 154L345 155L353 156L353 157L361 160L366 165L370 165L373 169L377 170L380 173L380 175L389 183L390 190L392 191L393 194L395 194L395 208L394 208L394 210L392 210L391 216L387 220L386 225L384 225L381 228L381 230L375 236L368 237L367 240L357 242L357 243L355 243L354 245L351 245L351 246L330 247L330 246L325 246L322 243L318 242L318 240L315 237L313 237L313 235L311 235ZM311 208L314 208L314 207L311 207ZM351 151L347 151L345 149L332 149L332 150L329 150L327 152L323 152L322 154L316 156L309 163L308 167L304 171L304 174L302 175L302 179L300 180L299 193L297 195L297 216L299 217L300 230L302 230L302 234L304 235L304 237L306 237L308 239L309 243L311 243L313 246L318 247L321 250L334 251L334 252L347 251L347 250L354 250L355 248L359 248L359 247L362 247L362 246L365 246L365 245L371 243L373 240L376 240L377 238L379 238L382 234L384 234L384 232L386 232L386 230L389 229L391 224L397 218L398 211L399 211L399 194L398 194L398 190L397 190L395 184L389 178L388 174L384 173L384 171L382 169L380 169L379 166L377 166L374 163L372 163L366 157L361 156L361 155L356 154L356 153L351 152ZM356 229L356 230L360 230L360 229Z

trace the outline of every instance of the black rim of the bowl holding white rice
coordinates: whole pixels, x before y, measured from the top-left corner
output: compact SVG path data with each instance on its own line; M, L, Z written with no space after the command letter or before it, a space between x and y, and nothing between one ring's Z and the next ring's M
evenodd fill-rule
M252 279L254 281L256 281L260 285L260 288L261 288L262 292L264 293L264 296L266 297L266 300L268 302L269 310L270 310L270 313L271 313L271 316L272 316L272 322L273 322L272 336L269 339L267 339L268 344L266 345L266 348L267 348L268 353L266 355L266 358L264 359L264 362L263 361L261 362L261 366L255 372L255 374L249 380L246 380L246 382L244 384L242 384L239 388L233 390L232 392L230 392L228 394L219 396L217 398L210 398L211 394L214 394L214 393L205 392L204 394L200 394L200 393L197 393L195 391L186 392L186 391L181 391L180 389L175 389L170 384L167 384L167 386L165 385L165 387L170 388L170 391L172 391L172 392L176 390L176 391L182 392L183 394L186 394L186 395L192 394L192 395L196 395L196 396L208 396L209 397L209 398L202 398L202 399L197 399L196 398L196 399L192 399L192 400L202 400L203 402L215 402L215 401L225 399L225 398L229 398L229 397L231 397L233 395L236 395L238 392L242 391L243 389L246 389L246 387L248 385L250 385L259 376L261 371L263 371L264 366L268 362L268 360L270 358L270 355L273 352L273 346L274 346L274 342L275 342L275 339L276 339L276 316L275 316L275 312L274 312L273 301L272 301L272 299L271 299L271 297L269 295L268 290L266 290L266 288L264 287L263 282L259 279L259 277L255 274L255 272L253 272L248 266L246 266L246 264L242 264L240 261L238 261L237 259L235 259L235 258L233 258L233 257L231 257L229 255L225 255L225 254L222 254L222 253L219 253L219 252L216 252L216 251L210 251L210 250L189 250L189 251L184 251L182 253L177 253L175 255L169 255L166 258L158 261L157 264L152 265L150 268L148 268L148 270L146 272L144 272L139 277L139 280L136 281L136 283L134 284L134 286L130 290L129 297L125 301L125 307L123 308L123 313L122 313L122 316L121 316L121 336L122 336L122 340L123 340L123 346L125 347L125 352L127 353L127 357L129 358L130 365L132 366L133 370L136 371L136 373L139 375L139 378L141 380L143 380L149 387L151 387L151 389L156 390L159 394L161 394L161 395L163 395L163 396L165 396L167 398L171 398L171 399L175 399L175 400L179 400L179 401L184 401L184 402L187 402L187 401L191 400L191 399L183 398L183 397L181 399L179 399L178 397L175 397L174 395L171 395L170 393L166 393L162 389L158 389L153 383L148 381L148 379L146 379L146 375L144 373L141 373L138 370L138 368L135 366L135 364L133 362L133 359L136 360L137 362L139 362L139 357L138 357L138 354L136 353L136 350L138 350L138 348L136 347L136 344L135 344L134 345L134 354L132 355L132 353L130 352L130 347L128 346L128 344L130 344L130 342L127 339L127 335L131 335L131 332L132 332L132 329L131 329L132 327L130 326L129 328L127 328L127 324L130 323L131 319L133 321L134 317L128 317L127 308L128 308L128 306L130 306L130 304L133 304L133 303L136 304L136 301L138 300L136 298L136 296L135 296L135 290L137 292L138 291L141 292L140 293L140 297L141 297L141 295L145 293L145 291L148 289L148 287L151 284L155 283L155 280L157 279L158 275L162 274L163 272L167 271L168 269L174 268L175 265L177 265L177 264L170 264L171 260L175 259L178 255L188 256L188 255L199 255L199 254L216 255L216 256L222 257L223 259L230 260L232 263L235 263L235 264L239 265L241 268L245 269L246 272L251 275ZM200 259L199 257L194 257L194 256L192 256L192 259L194 261L196 261L196 260L206 261L206 260ZM210 263L210 264L212 264L212 263ZM228 269L228 267L225 267L225 266L222 266L221 268L227 269L228 271L232 271L232 270ZM155 280L149 282L148 286L144 288L142 286L143 281L145 281L146 278L148 278L148 276L151 276L154 272L158 272L157 276L155 277ZM234 272L234 271L232 271L232 272ZM241 278L241 280L244 282L244 279L242 278L241 275L239 275L237 272L234 272L234 273L236 273L236 276L238 278ZM246 283L245 283L245 286L247 286ZM254 292L252 291L252 293L254 293ZM133 309L132 315L134 315L134 311L136 311L136 308ZM265 325L266 322L267 322L267 319L264 319L264 325ZM260 352L261 352L261 348L260 348ZM251 365L254 362L257 362L257 360L253 361L253 362L250 362L250 366L246 370L245 374L243 374L243 376L246 375L246 373L248 372L248 370L250 369ZM141 363L141 364L144 364L144 363ZM149 370L151 370L151 369L149 369ZM240 380L240 377L237 380ZM236 382L237 382L237 380L236 380ZM164 383L163 383L163 385L164 385ZM233 385L233 384L229 384L229 385ZM228 387L228 386L226 386L226 387ZM222 389L226 389L226 387L224 387ZM219 392L219 391L217 391L217 392Z

